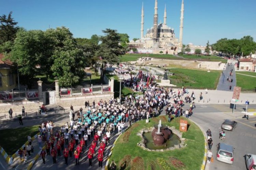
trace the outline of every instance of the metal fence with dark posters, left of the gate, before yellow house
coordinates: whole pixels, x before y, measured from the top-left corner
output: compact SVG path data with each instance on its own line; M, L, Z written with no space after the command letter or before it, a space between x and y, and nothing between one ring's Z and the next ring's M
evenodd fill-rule
M39 99L38 89L0 91L0 102L37 100L37 99Z

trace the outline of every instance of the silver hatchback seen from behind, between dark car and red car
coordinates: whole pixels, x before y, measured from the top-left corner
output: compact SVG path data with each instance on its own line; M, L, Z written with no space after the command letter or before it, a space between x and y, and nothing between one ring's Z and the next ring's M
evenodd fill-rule
M216 159L218 161L221 161L227 164L233 164L233 161L234 161L233 146L227 145L226 143L218 143Z

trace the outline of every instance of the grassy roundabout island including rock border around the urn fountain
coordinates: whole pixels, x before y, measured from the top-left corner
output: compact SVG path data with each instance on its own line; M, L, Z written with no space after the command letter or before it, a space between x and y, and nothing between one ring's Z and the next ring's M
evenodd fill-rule
M189 125L187 132L179 132L181 119L187 120L181 117L172 118L172 121L168 122L167 116L158 116L150 119L149 123L141 120L132 124L115 142L109 165L114 160L116 169L200 169L204 158L204 135L200 128L190 120L187 120ZM172 140L173 135L177 135L180 141L167 148L148 149L145 143L148 139L145 139L144 134L151 136L151 133L158 128L156 125L159 126L159 120L163 129L171 131L171 137L167 139L167 142ZM152 137L154 138L154 135Z

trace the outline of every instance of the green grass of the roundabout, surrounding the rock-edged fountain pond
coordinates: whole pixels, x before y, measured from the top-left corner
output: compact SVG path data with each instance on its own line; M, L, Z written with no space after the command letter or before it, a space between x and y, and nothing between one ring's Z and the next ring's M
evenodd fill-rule
M162 120L162 124L175 126L176 129L179 129L180 119L186 119L183 117L175 118L171 121L171 123L168 123L167 116L160 116L154 119L150 119L149 123L145 123L145 120L134 123L131 127L132 130L128 129L124 134L120 135L120 137L116 141L115 147L110 157L109 164L112 162L112 160L114 160L117 166L116 169L120 169L122 159L126 155L130 155L130 162L128 161L126 169L134 169L134 165L131 163L132 160L135 157L141 157L143 159L143 164L141 165L141 167L137 167L135 169L147 170L151 169L152 165L155 167L154 169L163 169L157 163L157 158L163 158L171 169L178 170L180 168L175 168L169 160L169 157L173 156L181 160L185 164L186 167L184 169L199 170L201 168L204 156L204 136L198 126L190 120L188 120L188 131L183 132L182 136L184 138L187 138L187 146L185 148L164 152L154 152L143 150L141 147L137 146L137 143L141 141L141 137L137 136L137 133L143 128L152 127L154 124L158 123L158 120L160 118ZM127 137L127 132L130 133L129 141L124 142L123 137Z

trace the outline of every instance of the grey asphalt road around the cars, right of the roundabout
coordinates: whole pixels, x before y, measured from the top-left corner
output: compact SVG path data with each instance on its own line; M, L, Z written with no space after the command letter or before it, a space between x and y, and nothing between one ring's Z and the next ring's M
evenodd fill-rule
M255 108L256 105L250 105ZM237 109L245 108L244 105L238 105ZM225 109L225 113L222 110ZM228 110L230 110L228 112ZM205 112L206 111L206 112ZM217 112L216 112L217 111ZM256 116L249 117L249 120L243 119L241 112L235 112L232 115L232 109L229 105L197 105L195 114L191 116L191 120L195 121L206 132L208 129L212 131L213 137L213 155L214 162L207 164L207 170L246 170L244 155L247 153L256 154L256 147L253 145L256 140ZM223 142L218 138L218 132L224 119L231 119L238 122L234 132L226 131L226 140L224 143L232 145L234 150L234 163L232 165L225 164L216 160L216 145Z

